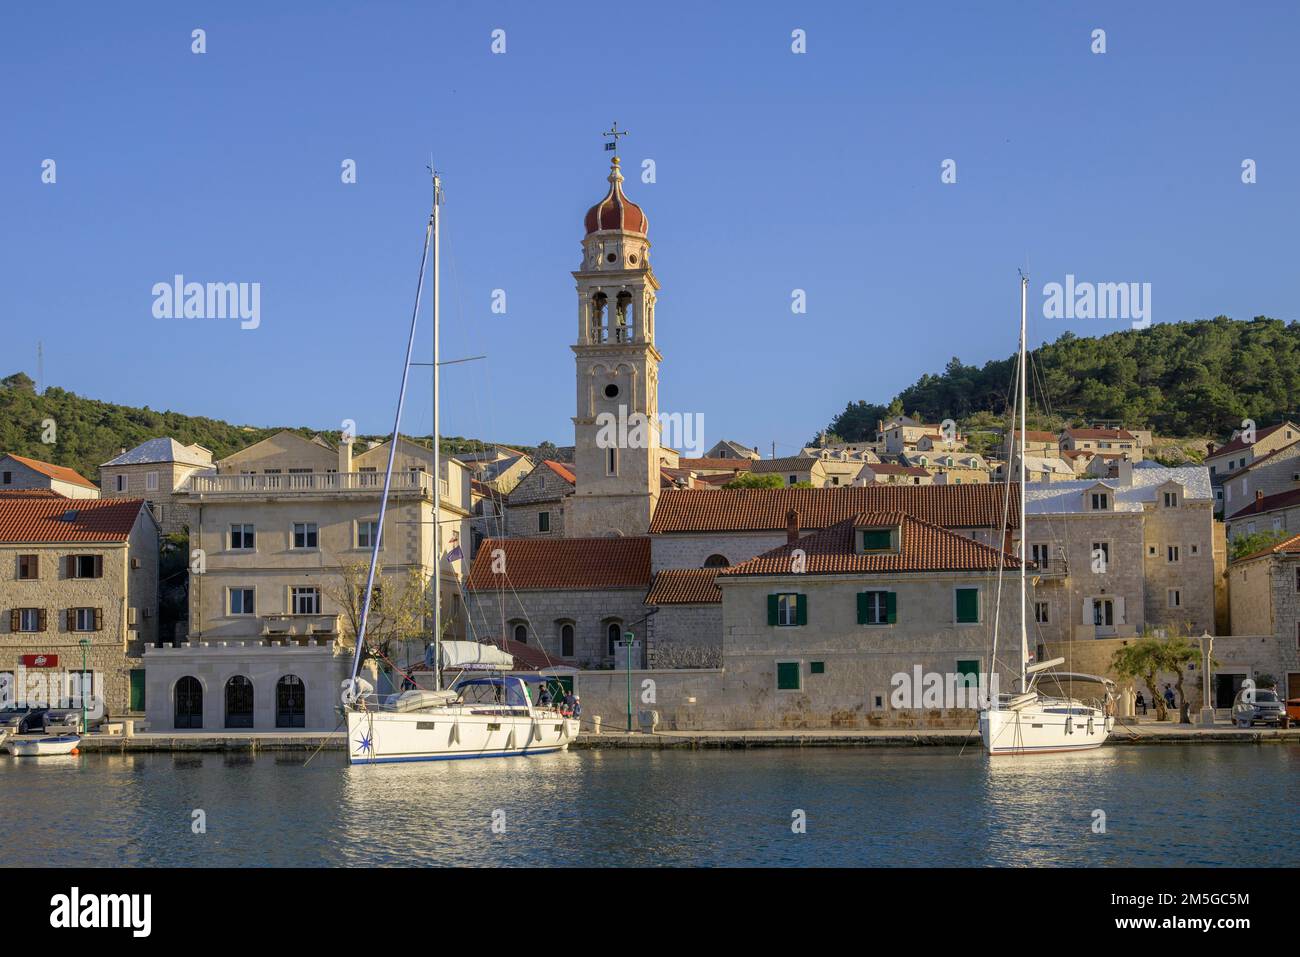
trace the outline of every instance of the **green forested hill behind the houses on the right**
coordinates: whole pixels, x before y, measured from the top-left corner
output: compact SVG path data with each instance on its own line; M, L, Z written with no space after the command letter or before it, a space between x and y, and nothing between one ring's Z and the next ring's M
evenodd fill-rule
M1030 411L1044 428L1117 420L1162 436L1225 437L1247 417L1262 425L1300 415L1300 322L1219 316L1100 338L1065 333L1031 364ZM953 359L890 403L850 402L827 429L866 441L876 420L900 412L991 423L1006 412L1014 372L1014 356L983 367Z

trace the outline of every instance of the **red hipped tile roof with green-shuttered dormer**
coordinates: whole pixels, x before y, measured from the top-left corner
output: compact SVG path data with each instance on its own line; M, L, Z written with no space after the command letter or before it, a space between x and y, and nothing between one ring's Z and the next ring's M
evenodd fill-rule
M902 527L901 547L894 553L857 554L854 532L859 528ZM719 581L750 575L790 575L793 553L800 549L807 558L802 575L890 573L890 572L956 572L1019 568L1015 555L972 538L949 532L904 512L862 512L816 534L766 551L718 573Z

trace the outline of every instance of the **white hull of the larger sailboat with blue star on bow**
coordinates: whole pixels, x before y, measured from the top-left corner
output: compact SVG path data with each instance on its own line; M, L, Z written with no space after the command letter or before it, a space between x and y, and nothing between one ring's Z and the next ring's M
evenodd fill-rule
M350 711L347 759L382 765L547 754L566 750L577 732L577 719L546 711Z

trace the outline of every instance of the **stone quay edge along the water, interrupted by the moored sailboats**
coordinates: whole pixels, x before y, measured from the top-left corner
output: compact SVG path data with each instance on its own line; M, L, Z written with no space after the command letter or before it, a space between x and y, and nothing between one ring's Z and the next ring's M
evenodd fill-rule
M1173 722L1127 719L1110 735L1110 744L1264 744L1300 742L1300 728L1235 728L1226 722L1201 728ZM658 731L655 733L584 731L575 750L650 749L746 749L746 748L961 748L979 744L975 728L967 731L928 728L771 729L771 731ZM83 752L286 752L346 748L342 731L196 731L140 732L131 736L87 735Z

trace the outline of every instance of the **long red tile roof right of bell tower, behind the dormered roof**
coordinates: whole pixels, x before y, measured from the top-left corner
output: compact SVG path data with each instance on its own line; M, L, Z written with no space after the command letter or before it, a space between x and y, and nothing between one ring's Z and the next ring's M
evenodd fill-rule
M651 534L785 531L785 514L818 529L864 511L905 511L944 528L1001 528L1001 485L840 485L826 489L668 489L659 494ZM1009 521L1017 528L1019 485Z

